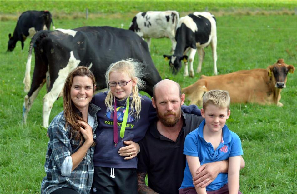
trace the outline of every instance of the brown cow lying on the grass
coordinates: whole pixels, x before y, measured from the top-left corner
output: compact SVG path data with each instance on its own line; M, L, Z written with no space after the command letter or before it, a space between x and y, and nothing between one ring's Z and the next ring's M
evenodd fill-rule
M217 76L204 76L194 84L182 89L191 104L202 106L204 92L219 89L227 90L232 103L277 104L283 106L280 92L286 87L288 72L295 67L279 59L266 69L242 70Z

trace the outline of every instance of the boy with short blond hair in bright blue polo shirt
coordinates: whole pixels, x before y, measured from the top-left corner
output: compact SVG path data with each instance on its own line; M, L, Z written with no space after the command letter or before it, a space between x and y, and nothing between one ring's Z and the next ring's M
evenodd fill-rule
M238 135L225 125L230 116L229 106L230 96L227 91L211 90L204 94L203 108L201 109L204 121L185 139L184 154L187 163L179 194L241 194L239 191L239 168L240 156L243 155L243 151ZM220 173L206 189L193 185L192 177L200 165L228 158L228 174Z

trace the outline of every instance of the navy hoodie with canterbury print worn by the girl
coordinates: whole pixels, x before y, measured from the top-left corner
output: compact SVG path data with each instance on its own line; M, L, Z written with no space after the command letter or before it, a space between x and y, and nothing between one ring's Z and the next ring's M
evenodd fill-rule
M137 157L131 160L124 160L126 156L120 156L118 150L127 146L124 141L140 141L150 122L156 117L156 110L152 101L147 96L141 96L140 118L136 120L135 114L129 114L123 139L120 137L120 130L123 122L124 110L126 110L126 100L117 100L118 113L118 144L115 147L113 142L113 110L107 111L104 103L107 92L100 92L93 97L92 103L96 104L102 110L97 112L98 127L96 129L96 147L93 155L94 166L110 168L137 168ZM132 97L131 97L132 98ZM130 98L130 105L132 99ZM130 109L131 110L131 109ZM130 111L129 110L129 111ZM120 114L120 116L119 116Z

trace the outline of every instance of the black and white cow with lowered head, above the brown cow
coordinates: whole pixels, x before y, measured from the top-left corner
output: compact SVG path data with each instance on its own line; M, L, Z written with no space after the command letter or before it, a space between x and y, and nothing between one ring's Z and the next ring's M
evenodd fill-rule
M194 12L181 17L177 25L175 40L177 41L173 55L163 55L169 60L172 73L176 74L184 61L184 76L188 76L188 61L190 62L190 76L194 77L193 62L196 51L199 55L197 73L201 72L201 66L205 55L204 47L211 45L214 59L214 74L217 75L217 27L214 15L209 12ZM186 55L190 51L189 57Z

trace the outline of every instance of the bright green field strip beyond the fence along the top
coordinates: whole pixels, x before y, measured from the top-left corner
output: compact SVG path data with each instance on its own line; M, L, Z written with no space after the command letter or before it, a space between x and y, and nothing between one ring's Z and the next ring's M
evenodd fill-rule
M58 5L58 6L57 6ZM211 11L250 9L250 10L294 10L295 0L63 0L63 1L37 1L37 0L1 0L1 13L15 14L24 10L50 10L51 12L84 12L86 8L93 13L129 13L142 10L176 10L189 12L202 10L208 7Z

